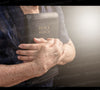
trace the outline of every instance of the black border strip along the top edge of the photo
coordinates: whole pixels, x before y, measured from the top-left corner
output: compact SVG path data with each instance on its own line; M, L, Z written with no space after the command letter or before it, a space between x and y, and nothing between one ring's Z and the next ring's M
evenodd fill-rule
M0 5L100 5L100 0L0 0Z

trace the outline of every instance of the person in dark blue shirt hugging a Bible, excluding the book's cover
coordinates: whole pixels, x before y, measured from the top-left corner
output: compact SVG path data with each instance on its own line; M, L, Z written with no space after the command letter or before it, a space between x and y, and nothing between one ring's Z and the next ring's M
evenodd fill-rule
M35 44L21 43L24 15L41 12L59 14L59 38L33 37ZM0 87L52 87L57 66L74 57L60 6L0 6Z

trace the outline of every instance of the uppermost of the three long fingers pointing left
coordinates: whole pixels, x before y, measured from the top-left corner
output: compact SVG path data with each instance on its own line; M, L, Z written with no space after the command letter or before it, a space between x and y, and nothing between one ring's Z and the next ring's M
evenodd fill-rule
M21 49L29 49L29 50L39 50L40 49L39 44L20 44L18 47Z

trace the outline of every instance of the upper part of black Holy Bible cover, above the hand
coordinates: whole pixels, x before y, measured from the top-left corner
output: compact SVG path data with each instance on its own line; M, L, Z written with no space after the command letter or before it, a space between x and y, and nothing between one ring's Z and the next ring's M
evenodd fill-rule
M26 14L24 43L33 43L33 38L58 38L59 19L56 12Z

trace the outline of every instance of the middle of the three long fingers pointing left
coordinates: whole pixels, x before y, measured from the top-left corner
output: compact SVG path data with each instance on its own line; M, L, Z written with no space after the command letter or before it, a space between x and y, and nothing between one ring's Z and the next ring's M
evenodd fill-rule
M28 55L28 56L33 56L37 53L36 50L17 50L16 51L16 54L19 54L19 55Z

